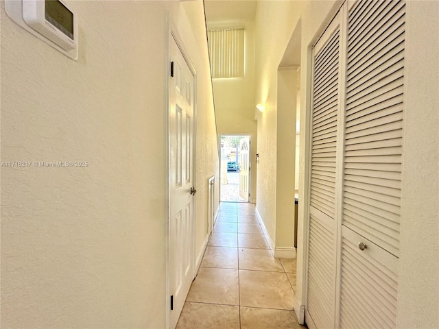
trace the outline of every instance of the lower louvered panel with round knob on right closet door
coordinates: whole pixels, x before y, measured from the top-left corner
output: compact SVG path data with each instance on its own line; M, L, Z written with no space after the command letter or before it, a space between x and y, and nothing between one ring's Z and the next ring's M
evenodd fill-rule
M344 322L355 315L364 321L361 328L394 328L396 258L348 228L343 228L342 235L340 327L357 328L358 324ZM361 252L357 241L366 243L368 249Z

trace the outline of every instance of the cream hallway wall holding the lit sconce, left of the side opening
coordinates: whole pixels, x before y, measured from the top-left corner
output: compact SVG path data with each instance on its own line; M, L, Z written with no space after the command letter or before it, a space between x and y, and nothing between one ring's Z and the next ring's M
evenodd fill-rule
M278 162L278 66L298 20L296 1L261 1L255 23L255 102L266 101L257 113L259 164L257 209L276 245L276 170ZM294 145L294 144L293 144ZM292 169L294 174L294 168ZM294 178L294 176L293 176ZM292 185L294 190L294 182ZM293 191L294 193L294 191ZM294 228L293 228L294 229Z

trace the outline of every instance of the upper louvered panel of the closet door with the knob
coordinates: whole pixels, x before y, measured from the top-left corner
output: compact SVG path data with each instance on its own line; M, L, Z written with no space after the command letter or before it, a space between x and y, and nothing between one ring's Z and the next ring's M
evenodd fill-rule
M405 2L349 17L343 225L399 256Z

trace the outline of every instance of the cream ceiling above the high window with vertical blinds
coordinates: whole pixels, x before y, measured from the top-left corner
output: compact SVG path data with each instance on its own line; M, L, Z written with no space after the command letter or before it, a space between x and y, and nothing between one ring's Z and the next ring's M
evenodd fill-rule
M204 0L207 23L254 21L254 0Z

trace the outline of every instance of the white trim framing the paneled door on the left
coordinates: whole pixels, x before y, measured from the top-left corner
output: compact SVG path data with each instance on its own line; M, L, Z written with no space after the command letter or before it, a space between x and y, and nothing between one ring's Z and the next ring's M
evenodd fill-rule
M182 53L183 58L185 59L185 62L187 66L189 66L189 70L193 74L193 169L191 172L192 180L193 180L193 186L196 186L196 136L197 136L197 124L196 124L196 117L197 117L197 73L195 71L195 66L193 65L193 62L191 61L191 58L189 57L189 52L185 48L185 44L183 42L183 38L178 33L178 29L176 25L174 25L173 22L169 19L169 12L167 13L167 26L168 26L168 32L167 32L167 42L166 42L166 60L165 60L165 90L166 90L166 175L165 178L166 182L166 206L167 206L167 219L166 219L166 328L170 328L171 325L171 284L170 284L170 220L171 220L171 182L170 182L170 169L171 169L171 158L169 157L170 152L170 135L169 135L169 93L170 93L170 84L169 84L169 77L171 75L171 42L174 40L176 42L176 45L180 49L180 52ZM196 195L193 196L193 228L192 228L192 247L191 247L191 263L192 263L192 280L195 278L195 274L197 273L197 269L195 268L195 226L197 221L197 197Z

